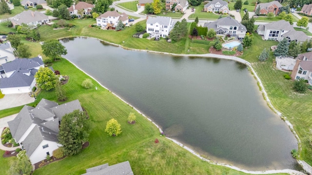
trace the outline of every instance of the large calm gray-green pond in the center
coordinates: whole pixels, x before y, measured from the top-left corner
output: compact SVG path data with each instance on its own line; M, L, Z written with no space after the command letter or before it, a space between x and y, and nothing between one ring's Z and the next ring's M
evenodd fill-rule
M68 60L196 152L247 170L298 169L290 154L295 137L245 65L129 51L93 38L61 43Z

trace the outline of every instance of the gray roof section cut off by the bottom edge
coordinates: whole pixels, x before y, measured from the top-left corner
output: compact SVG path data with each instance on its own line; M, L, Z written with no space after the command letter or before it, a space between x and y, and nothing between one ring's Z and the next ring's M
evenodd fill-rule
M83 175L133 175L129 161L108 166L108 163L86 169Z

